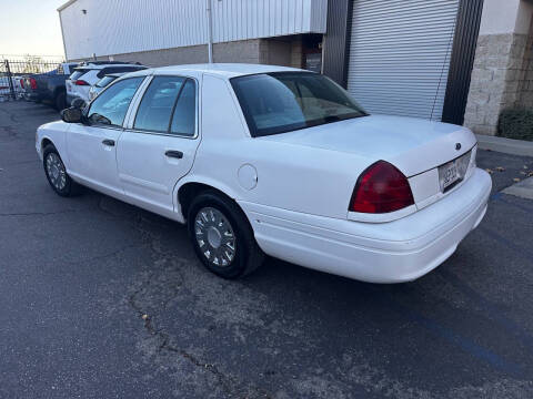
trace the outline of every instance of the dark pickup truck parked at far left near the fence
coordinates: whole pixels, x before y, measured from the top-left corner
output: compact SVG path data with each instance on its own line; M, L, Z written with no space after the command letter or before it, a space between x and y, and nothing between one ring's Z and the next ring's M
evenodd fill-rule
M64 82L77 65L78 63L60 63L53 71L27 76L24 81L27 100L50 102L58 111L67 108Z

